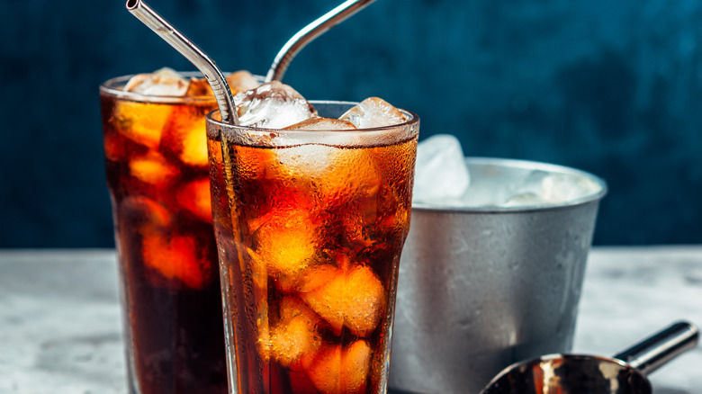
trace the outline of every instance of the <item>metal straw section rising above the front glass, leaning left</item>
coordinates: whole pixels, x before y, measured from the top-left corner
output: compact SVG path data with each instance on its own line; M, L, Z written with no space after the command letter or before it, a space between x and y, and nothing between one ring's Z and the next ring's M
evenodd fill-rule
M207 78L207 82L211 85L214 96L217 99L221 121L229 124L238 124L234 98L231 95L227 81L224 79L224 75L214 64L214 61L202 52L202 49L193 44L193 41L188 40L180 31L175 30L173 25L166 22L161 15L141 0L127 0L127 10L152 31L156 32L159 37L166 40L167 43L200 70L202 75Z

